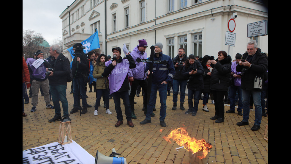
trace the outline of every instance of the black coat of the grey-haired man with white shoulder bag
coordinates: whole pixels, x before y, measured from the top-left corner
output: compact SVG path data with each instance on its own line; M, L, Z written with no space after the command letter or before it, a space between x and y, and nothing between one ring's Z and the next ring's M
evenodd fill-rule
M243 54L243 59L247 60L249 57L248 53ZM257 52L253 55L251 63L251 67L246 67L243 65L237 65L236 70L239 72L244 71L243 76L241 77L241 88L244 90L261 90L254 89L254 78L256 76L262 77L263 81L265 78L265 73L268 70L268 56L265 53L261 53L261 49L258 48ZM246 68L246 69L243 69ZM264 84L264 83L262 83Z

